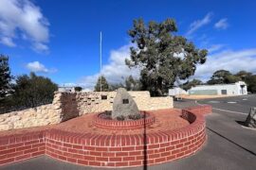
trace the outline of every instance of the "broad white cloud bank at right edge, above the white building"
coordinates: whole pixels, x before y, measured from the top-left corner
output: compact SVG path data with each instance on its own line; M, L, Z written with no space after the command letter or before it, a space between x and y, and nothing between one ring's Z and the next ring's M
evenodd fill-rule
M239 51L223 50L210 55L203 65L198 65L192 78L208 80L217 70L235 74L241 70L256 74L256 48Z

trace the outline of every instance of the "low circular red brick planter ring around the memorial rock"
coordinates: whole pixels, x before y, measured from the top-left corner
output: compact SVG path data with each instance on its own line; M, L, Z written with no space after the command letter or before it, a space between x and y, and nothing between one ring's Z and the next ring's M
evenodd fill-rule
M141 114L146 115L145 118L138 120L128 120L128 121L117 121L117 120L107 120L101 118L101 114L96 114L94 116L93 124L96 127L107 128L107 129L135 129L148 127L154 124L155 116L150 114L150 112L141 111Z

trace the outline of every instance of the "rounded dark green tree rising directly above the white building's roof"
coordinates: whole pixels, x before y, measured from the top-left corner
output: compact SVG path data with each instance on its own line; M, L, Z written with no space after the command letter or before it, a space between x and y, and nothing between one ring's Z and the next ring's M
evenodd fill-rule
M218 70L213 73L210 77L210 80L207 82L208 84L229 84L239 81L240 78L238 76L232 75L227 70Z

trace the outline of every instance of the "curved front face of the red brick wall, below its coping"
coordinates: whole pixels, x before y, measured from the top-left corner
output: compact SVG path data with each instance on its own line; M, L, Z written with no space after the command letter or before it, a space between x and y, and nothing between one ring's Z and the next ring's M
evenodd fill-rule
M186 133L177 130L149 134L146 146L142 135L91 135L90 140L82 140L82 137L64 137L56 132L50 139L46 138L46 155L90 166L140 166L145 161L151 165L191 155L204 144L204 125L186 129Z

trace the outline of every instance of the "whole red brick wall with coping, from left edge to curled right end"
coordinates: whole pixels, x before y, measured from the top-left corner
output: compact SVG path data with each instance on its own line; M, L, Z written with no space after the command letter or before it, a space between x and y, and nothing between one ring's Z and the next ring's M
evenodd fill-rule
M182 110L191 124L175 130L133 135L80 134L49 129L0 138L0 164L46 154L72 163L131 167L173 161L192 155L206 141L205 119L210 107Z

